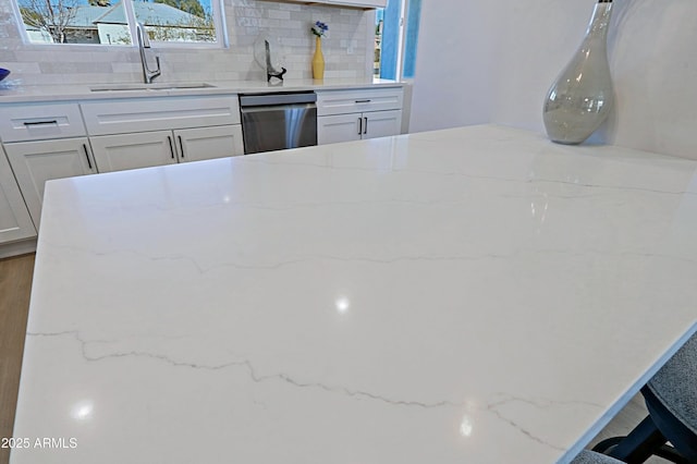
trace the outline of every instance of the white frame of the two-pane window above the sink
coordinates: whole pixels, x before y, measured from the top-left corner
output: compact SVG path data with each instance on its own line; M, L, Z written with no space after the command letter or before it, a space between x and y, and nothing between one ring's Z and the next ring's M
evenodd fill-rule
M46 47L47 49L54 49L54 47L61 47L62 50L85 50L87 48L98 48L100 50L105 48L115 49L131 49L138 48L138 41L136 39L136 17L135 10L133 9L133 0L118 0L123 3L124 13L127 21L129 33L131 34L131 44L57 44L57 42L35 42L29 38L29 34L25 27L22 12L20 11L20 0L10 0L12 2L12 10L17 21L17 28L22 36L22 41L25 46L36 48L38 50ZM224 0L211 0L210 7L212 10L213 25L216 27L216 41L166 41L150 39L150 44L154 47L161 49L207 49L216 50L222 48L229 48L230 42L228 38L228 27L225 22ZM146 26L147 29L147 26Z

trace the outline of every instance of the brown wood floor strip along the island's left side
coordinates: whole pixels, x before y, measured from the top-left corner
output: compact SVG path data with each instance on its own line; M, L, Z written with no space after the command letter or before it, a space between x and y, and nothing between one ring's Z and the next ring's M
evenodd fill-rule
M0 259L0 438L12 437L34 254ZM10 451L0 448L0 464Z

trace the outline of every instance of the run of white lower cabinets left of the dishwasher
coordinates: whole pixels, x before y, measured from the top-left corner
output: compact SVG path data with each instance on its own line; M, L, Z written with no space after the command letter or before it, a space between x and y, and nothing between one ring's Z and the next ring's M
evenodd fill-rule
M244 155L228 94L0 102L0 243L36 235L49 180Z

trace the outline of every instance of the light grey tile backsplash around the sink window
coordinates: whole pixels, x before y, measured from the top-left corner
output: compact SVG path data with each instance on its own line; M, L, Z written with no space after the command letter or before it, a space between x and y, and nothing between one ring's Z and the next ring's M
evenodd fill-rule
M283 57L286 78L311 78L315 49L310 25L330 30L322 39L327 78L369 78L372 74L375 11L265 0L224 0L228 48L154 46L161 82L265 80L254 59L255 42L269 37ZM9 0L0 2L0 68L12 71L10 85L99 84L142 81L136 47L29 45ZM4 84L4 83L3 83Z

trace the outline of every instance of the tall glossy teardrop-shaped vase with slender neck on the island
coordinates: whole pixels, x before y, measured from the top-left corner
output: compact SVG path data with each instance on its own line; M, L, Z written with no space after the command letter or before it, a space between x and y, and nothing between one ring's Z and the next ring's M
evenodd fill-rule
M547 93L542 119L552 142L576 145L608 118L614 100L608 63L612 0L598 0L586 36Z

